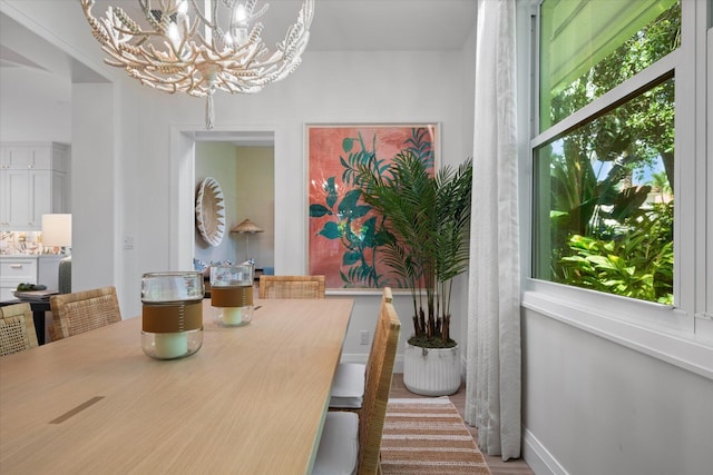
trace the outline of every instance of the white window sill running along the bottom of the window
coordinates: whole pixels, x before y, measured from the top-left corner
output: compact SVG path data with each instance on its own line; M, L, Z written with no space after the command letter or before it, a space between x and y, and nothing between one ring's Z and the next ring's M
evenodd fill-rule
M657 328L655 324L607 315L600 311L602 305L587 304L579 299L563 298L560 295L537 290L528 290L522 295L522 307L529 310L713 379L711 342L696 337L693 331L686 333L671 327ZM676 310L668 311L674 314ZM641 319L643 318L642 316ZM693 321L693 318L684 320Z

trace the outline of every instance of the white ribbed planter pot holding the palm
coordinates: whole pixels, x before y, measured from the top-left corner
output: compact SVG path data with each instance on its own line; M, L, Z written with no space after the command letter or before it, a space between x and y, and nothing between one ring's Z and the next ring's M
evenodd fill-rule
M448 396L460 387L460 347L421 348L406 344L403 384L411 393Z

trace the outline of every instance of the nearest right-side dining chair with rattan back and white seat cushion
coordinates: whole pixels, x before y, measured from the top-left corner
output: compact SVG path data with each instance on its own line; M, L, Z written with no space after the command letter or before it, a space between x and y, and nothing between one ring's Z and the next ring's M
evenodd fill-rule
M312 472L315 475L381 473L381 437L401 331L392 303L381 304L378 321L380 328L367 366L362 409L360 414L349 410L326 414Z

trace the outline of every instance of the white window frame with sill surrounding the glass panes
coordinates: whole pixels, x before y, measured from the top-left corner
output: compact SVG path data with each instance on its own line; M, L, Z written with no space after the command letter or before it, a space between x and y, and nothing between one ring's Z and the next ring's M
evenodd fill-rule
M706 144L706 132L713 129L713 101L706 96L713 95L713 88L706 87L706 75L713 77L710 51L706 65L706 42L707 48L713 44L713 2L682 1L677 50L543 132L538 123L539 6L539 0L518 2L522 307L713 379L713 200L706 191L713 187L713 159L706 164L706 157L713 156L713 144ZM675 77L675 306L534 278L537 147L671 75Z

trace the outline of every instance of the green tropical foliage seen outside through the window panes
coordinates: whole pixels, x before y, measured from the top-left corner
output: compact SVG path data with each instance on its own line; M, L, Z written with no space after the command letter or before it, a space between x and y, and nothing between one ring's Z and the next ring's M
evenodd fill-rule
M676 3L553 97L550 123L673 51L680 31ZM535 151L535 277L673 304L674 91L671 72Z

